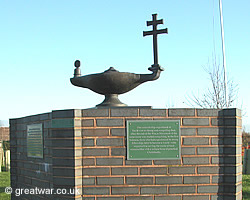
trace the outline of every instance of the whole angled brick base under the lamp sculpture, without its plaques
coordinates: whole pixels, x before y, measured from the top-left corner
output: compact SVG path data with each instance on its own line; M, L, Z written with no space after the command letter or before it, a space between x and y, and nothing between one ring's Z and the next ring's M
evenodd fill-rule
M127 160L127 120L180 120L181 159ZM44 157L27 157L27 125L42 123ZM10 120L11 186L73 188L36 199L241 199L238 109L59 110ZM13 199L33 199L22 194Z

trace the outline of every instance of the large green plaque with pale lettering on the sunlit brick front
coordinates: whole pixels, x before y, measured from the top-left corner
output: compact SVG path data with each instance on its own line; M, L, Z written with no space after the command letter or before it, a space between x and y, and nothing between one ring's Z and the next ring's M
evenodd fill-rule
M128 160L181 159L180 121L128 120Z

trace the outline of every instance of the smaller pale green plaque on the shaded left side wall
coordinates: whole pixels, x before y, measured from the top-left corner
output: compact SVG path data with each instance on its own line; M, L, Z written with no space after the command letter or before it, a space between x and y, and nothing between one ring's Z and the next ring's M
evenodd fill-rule
M27 156L43 158L43 125L27 125Z

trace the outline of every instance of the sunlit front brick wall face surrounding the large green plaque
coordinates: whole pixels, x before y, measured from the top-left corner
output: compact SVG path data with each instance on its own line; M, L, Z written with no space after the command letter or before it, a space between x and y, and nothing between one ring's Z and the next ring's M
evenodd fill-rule
M241 199L237 109L83 110L83 197L121 200ZM101 110L99 110L99 114ZM180 160L126 159L126 120L180 120ZM105 197L105 198L104 198Z

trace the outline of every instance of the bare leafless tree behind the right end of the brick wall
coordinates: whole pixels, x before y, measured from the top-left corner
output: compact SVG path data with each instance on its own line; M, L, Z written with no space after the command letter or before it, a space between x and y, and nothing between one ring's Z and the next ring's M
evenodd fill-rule
M233 106L237 99L238 86L231 79L228 79L227 88L225 88L224 71L217 64L216 58L213 59L212 65L208 63L204 69L209 75L210 85L201 96L192 94L187 97L187 103L192 107L201 108L222 109Z

